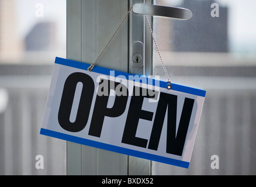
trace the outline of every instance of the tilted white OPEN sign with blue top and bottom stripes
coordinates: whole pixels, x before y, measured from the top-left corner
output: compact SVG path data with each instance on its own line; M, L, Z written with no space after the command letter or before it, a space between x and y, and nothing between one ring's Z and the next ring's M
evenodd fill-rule
M188 168L206 91L56 58L40 134Z

